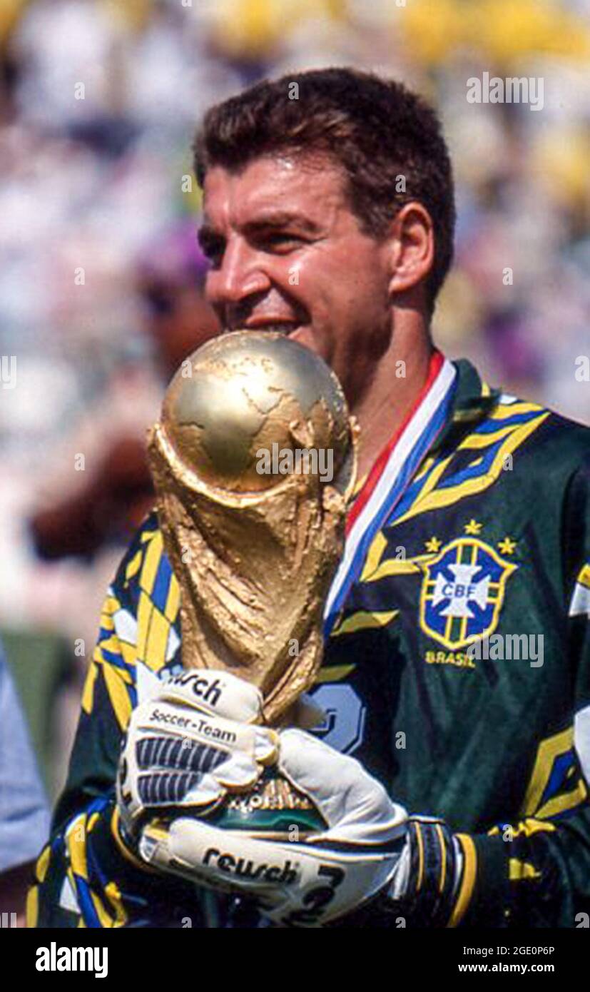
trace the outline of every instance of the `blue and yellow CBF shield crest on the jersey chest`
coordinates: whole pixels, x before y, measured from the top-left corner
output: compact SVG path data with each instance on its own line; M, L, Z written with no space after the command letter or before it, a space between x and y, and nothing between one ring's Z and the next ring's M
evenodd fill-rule
M457 538L422 568L420 627L426 634L454 650L493 633L518 565L477 538Z

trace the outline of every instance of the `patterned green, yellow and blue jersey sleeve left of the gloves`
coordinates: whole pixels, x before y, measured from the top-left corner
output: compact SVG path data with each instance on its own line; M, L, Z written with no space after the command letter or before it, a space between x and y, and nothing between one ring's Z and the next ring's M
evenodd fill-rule
M136 861L118 832L115 777L121 741L137 703L133 628L145 598L136 578L155 532L155 518L149 518L104 601L67 781L28 895L29 927L202 925L195 887ZM184 918L190 923L183 924Z

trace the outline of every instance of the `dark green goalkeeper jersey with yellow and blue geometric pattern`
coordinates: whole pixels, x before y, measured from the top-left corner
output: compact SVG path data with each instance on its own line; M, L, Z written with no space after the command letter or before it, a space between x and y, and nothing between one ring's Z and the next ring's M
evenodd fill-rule
M313 732L461 834L453 926L574 928L590 913L590 430L445 367L441 423L398 455L331 595ZM29 926L227 926L227 899L118 839L121 738L181 667L178 608L152 514L104 602Z

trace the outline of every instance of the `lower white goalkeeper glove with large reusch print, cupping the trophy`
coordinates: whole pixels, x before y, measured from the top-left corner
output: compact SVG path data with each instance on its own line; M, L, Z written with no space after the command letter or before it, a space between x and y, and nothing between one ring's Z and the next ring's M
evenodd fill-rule
M280 735L279 768L327 829L304 842L260 840L181 816L150 824L142 857L206 887L254 898L283 927L318 927L387 887L405 846L407 813L362 766L300 730Z

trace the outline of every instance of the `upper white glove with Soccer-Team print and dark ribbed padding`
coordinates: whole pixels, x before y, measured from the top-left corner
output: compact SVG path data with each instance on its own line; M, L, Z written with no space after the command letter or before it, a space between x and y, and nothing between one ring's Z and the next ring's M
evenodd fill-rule
M186 672L131 714L117 775L123 838L135 847L155 814L210 811L252 788L276 759L278 734L256 726L262 694L226 672Z

